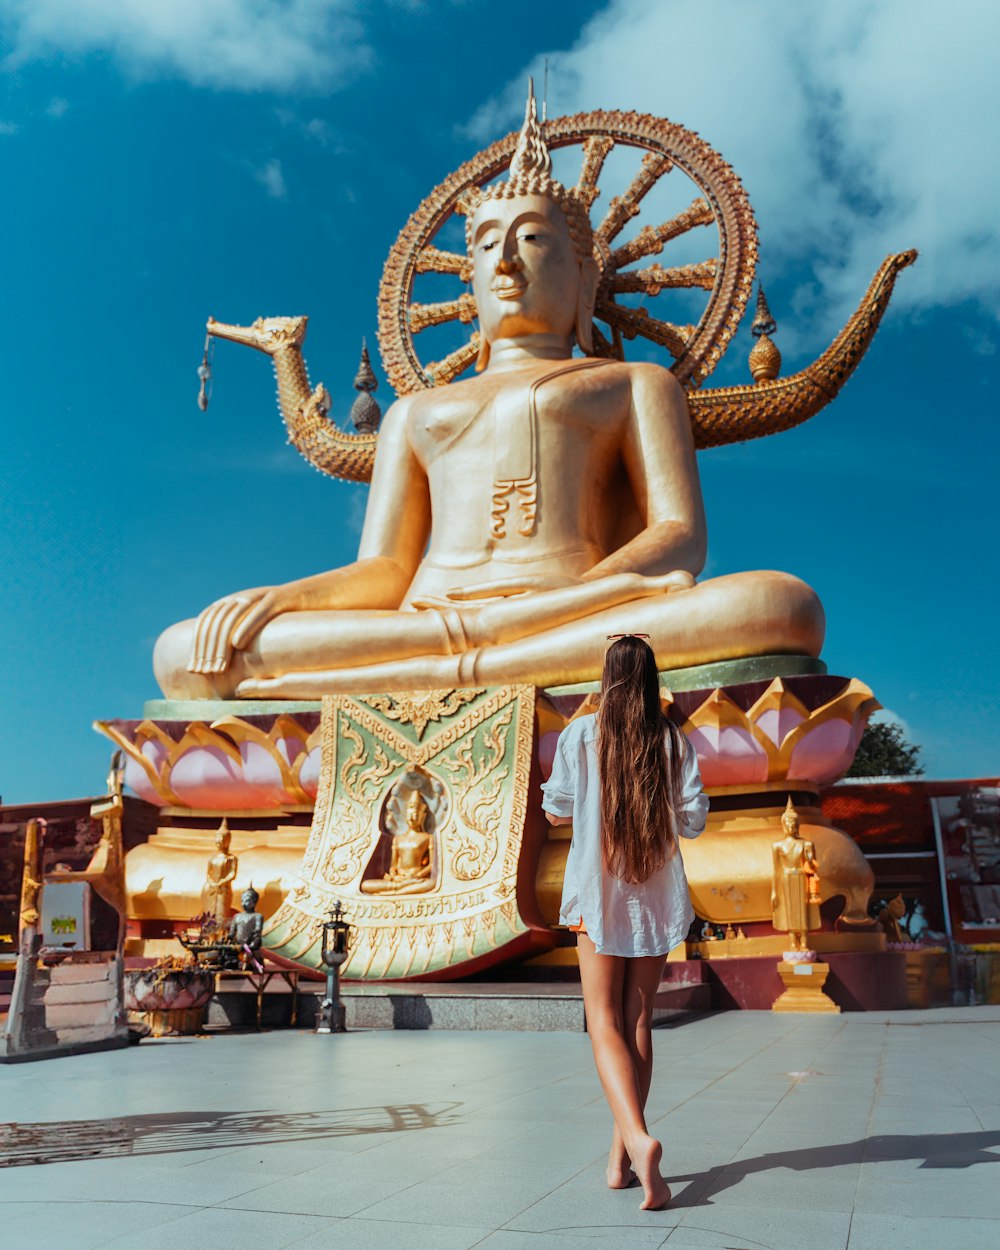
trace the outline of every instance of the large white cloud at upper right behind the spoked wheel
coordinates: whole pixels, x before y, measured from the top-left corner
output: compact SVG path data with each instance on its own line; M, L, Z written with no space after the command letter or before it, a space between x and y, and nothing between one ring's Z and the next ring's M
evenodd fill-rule
M898 306L971 299L1000 316L998 46L992 0L611 0L548 54L549 114L636 109L698 130L746 186L765 285L812 266L801 320L842 318L881 259L914 246ZM470 134L515 125L541 68L542 55ZM775 309L786 325L790 311Z

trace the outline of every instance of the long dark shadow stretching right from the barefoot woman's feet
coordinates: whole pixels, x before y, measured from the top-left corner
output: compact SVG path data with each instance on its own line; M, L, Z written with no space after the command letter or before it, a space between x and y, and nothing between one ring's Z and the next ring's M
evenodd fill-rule
M1000 1146L1000 1130L984 1132L939 1132L905 1135L898 1132L844 1141L834 1146L812 1146L808 1150L776 1150L755 1159L738 1159L724 1168L705 1172L668 1176L671 1185L688 1182L672 1206L710 1206L716 1194L732 1189L754 1172L789 1168L792 1171L814 1171L842 1164L874 1164L922 1159L921 1168L972 1168L975 1164L1000 1164L1000 1155L990 1152ZM699 1185L698 1182L702 1184Z

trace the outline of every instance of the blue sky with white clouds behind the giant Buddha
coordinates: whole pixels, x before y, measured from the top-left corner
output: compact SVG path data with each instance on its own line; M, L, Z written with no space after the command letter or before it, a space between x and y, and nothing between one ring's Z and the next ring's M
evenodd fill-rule
M785 372L888 251L921 249L836 404L700 455L706 572L805 578L830 671L872 686L930 775L1000 771L1000 22L829 8L0 0L4 800L101 789L90 721L158 695L168 624L351 559L365 488L285 445L262 356L220 345L196 408L205 318L309 312L346 418L396 232L516 122L545 56L550 114L670 116L736 168ZM745 324L709 385L746 380L749 346Z

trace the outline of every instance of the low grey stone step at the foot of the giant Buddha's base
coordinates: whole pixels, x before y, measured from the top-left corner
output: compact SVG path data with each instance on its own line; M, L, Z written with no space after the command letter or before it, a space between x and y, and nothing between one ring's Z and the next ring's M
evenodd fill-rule
M299 994L299 1026L312 1028L324 989L305 982ZM348 1029L470 1029L516 1032L584 1032L584 996L578 982L382 982L341 988ZM710 1011L705 984L664 981L656 995L654 1026ZM209 1005L209 1028L252 1028L256 995L242 985L228 986ZM288 988L271 982L264 996L262 1026L288 1028Z

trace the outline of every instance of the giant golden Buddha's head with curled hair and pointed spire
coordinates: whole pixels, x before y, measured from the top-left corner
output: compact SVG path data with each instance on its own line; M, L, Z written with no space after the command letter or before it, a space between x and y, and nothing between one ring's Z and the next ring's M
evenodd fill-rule
M524 126L506 181L476 191L466 216L481 346L476 368L498 339L548 335L569 355L574 339L592 351L600 281L586 205L552 178L552 161L529 91Z

